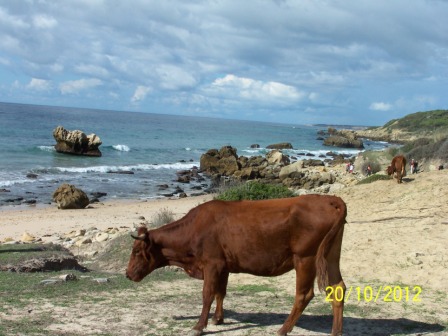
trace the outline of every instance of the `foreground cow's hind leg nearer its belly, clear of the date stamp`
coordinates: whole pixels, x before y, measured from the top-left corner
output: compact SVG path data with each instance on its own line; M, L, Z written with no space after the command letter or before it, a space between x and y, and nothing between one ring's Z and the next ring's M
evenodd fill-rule
M315 258L294 256L294 268L296 270L296 297L291 313L283 326L277 331L277 335L281 336L287 335L294 328L303 310L314 297Z

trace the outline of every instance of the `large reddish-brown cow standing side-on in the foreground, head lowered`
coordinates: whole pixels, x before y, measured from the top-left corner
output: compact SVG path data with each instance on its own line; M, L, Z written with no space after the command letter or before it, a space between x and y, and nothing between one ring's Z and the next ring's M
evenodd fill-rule
M158 229L140 227L138 236L133 237L126 276L141 281L159 267L175 265L204 280L202 313L189 333L198 336L207 327L214 299L212 323L224 322L229 273L278 276L295 269L294 306L277 334L287 335L293 329L314 296L317 276L320 290L333 287L329 292L333 293L329 294L333 306L331 335L341 335L344 300L334 294L344 295L346 288L339 269L346 215L344 201L328 195L210 201Z

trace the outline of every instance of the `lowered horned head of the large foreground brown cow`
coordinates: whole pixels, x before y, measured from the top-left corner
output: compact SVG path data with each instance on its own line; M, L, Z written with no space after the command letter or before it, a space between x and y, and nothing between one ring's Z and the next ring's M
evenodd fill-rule
M131 234L131 237L135 241L126 269L126 277L132 281L139 282L156 269L157 253L153 251L154 243L146 227L140 227L137 236Z

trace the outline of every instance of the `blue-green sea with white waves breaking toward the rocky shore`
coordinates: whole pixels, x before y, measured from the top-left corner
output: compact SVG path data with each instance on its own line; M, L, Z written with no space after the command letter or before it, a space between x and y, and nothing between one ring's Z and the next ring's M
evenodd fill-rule
M101 157L57 153L53 130L95 133ZM345 126L343 128L349 128ZM176 173L199 167L211 148L232 146L238 155L265 155L266 146L289 142L285 153L324 160L329 152L356 155L359 150L323 146L317 132L326 125L215 119L170 114L110 111L0 103L0 208L50 204L63 183L101 200L164 198L178 187L187 195L206 190L210 181L177 182ZM251 148L258 144L259 148ZM384 142L364 142L381 150ZM168 188L161 188L168 185Z

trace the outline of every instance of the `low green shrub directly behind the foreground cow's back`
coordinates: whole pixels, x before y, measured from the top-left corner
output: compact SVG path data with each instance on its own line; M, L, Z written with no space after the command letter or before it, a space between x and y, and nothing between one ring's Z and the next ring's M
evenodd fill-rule
M215 199L222 201L240 201L287 198L291 196L293 196L293 192L283 185L250 181L222 191Z

